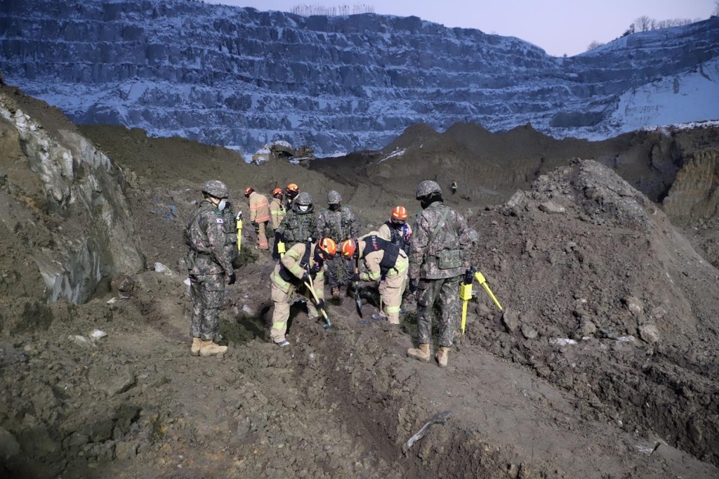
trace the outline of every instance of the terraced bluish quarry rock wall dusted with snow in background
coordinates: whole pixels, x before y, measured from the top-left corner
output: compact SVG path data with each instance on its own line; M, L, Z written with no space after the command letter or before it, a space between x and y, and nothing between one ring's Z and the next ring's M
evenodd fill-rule
M13 0L0 12L0 49L7 82L75 122L250 156L273 140L325 154L377 149L420 122L492 131L531 122L597 139L707 119L715 109L701 99L719 91L719 18L554 58L515 37L417 17ZM654 93L672 108L657 107Z

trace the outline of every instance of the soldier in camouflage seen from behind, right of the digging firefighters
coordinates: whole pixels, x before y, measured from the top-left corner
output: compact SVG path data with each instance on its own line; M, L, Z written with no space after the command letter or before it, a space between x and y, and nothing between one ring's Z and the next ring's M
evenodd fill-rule
M417 215L409 253L409 290L417 294L417 332L419 346L407 351L408 357L429 362L432 339L432 310L439 297L439 351L435 359L446 368L454 328L462 303L459 283L471 245L470 229L462 215L446 206L435 181L422 181L416 197L423 211Z

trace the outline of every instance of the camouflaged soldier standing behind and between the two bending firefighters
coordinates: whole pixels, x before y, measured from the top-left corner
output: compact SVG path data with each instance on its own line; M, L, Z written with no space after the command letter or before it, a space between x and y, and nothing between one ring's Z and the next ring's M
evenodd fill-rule
M317 232L321 236L334 239L337 245L345 239L357 237L359 226L349 206L340 206L342 196L337 191L327 193L329 209L323 209L317 219ZM342 280L339 279L340 269L343 270ZM332 298L339 299L339 290L350 285L350 278L354 273L354 262L351 257L342 255L327 261L327 282Z

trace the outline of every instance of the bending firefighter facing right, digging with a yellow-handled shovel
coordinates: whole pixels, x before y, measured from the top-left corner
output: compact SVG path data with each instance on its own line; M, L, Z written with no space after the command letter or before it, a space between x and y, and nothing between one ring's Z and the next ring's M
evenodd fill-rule
M290 319L290 304L295 293L307 300L307 313L311 320L319 319L318 309L324 309L324 262L337 254L337 244L331 238L320 238L316 242L298 243L291 247L270 275L272 300L275 309L272 316L270 338L275 345L288 346L285 338L287 321ZM310 278L312 281L310 283ZM307 284L314 286L318 303Z

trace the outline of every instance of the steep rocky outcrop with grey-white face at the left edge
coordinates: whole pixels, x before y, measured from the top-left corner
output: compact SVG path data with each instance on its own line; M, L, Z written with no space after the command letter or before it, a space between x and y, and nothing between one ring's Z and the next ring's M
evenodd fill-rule
M32 317L52 319L38 298L82 303L102 278L135 273L144 259L122 170L103 152L75 131L43 128L6 90L0 92L0 129L6 153L0 220L5 244L12 245L0 255L6 303L0 330L14 330ZM45 286L40 294L37 276Z

